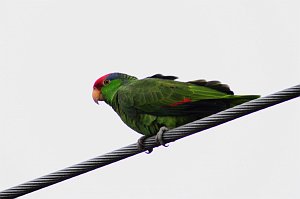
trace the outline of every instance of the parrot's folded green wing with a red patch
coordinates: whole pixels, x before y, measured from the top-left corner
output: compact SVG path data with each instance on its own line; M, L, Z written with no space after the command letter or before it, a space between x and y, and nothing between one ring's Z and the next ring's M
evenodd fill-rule
M146 78L124 85L117 93L126 114L157 116L209 115L229 107L230 96L206 86L166 79Z

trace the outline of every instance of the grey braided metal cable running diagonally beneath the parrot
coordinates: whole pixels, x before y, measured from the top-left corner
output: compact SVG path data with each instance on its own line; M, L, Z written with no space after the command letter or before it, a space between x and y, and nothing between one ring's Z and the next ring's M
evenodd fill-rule
M282 103L284 101L300 96L300 84L277 93L261 97L244 104L235 106L233 108L221 111L206 118L191 122L189 124L180 126L175 129L166 131L163 134L165 143L174 142L180 138L192 135L196 132L223 124L225 122L234 120L241 116L245 116L252 112ZM151 149L157 147L155 136L145 140L145 148ZM0 192L0 198L15 198L33 191L42 189L44 187L56 184L58 182L70 179L72 177L81 175L83 173L92 171L94 169L109 165L113 162L128 158L130 156L141 153L145 150L138 148L137 144L131 144L121 149L106 153L96 158L81 162L79 164L67 167L65 169L50 173L40 178L25 182L15 187L6 189Z

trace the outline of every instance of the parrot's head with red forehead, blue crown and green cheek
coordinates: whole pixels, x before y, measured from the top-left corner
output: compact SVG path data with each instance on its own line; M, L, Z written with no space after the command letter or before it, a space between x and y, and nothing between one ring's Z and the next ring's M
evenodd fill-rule
M114 94L126 81L136 79L123 73L109 73L97 79L93 86L92 97L95 103L105 101L110 104Z

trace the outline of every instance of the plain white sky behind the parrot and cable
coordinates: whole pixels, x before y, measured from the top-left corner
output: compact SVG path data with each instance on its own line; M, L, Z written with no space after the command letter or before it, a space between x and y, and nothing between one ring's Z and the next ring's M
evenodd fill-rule
M0 1L0 190L135 142L92 84L109 72L299 84L300 1ZM300 101L23 198L299 198Z

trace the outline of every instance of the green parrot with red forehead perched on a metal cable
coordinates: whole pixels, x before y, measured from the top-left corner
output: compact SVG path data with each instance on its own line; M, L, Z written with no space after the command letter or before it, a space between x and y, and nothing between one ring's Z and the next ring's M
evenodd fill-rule
M150 136L156 135L158 144L165 146L165 131L260 97L234 95L220 81L176 79L162 74L138 79L113 72L95 81L92 98L97 104L107 103L128 127L142 134L138 146L143 149Z

